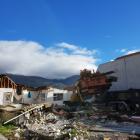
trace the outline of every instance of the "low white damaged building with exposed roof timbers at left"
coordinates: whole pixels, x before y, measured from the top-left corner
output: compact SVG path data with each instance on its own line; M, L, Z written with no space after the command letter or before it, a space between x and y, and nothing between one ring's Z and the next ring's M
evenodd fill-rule
M15 80L16 81L16 80ZM63 101L69 101L72 91L53 87L39 87L29 89L17 84L7 75L0 75L0 105L11 103L38 104L50 103L63 105Z

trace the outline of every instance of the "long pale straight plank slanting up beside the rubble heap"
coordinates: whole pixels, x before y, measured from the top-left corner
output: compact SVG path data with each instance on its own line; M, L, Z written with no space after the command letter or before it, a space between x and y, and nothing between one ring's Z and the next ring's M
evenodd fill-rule
M44 104L37 105L37 106L35 106L35 107L33 107L33 108L31 108L31 109L29 109L29 110L23 112L22 114L20 114L20 115L18 115L18 116L16 116L16 117L14 117L14 118L12 118L12 119L10 119L10 120L4 122L3 124L7 124L7 123L9 123L9 122L11 122L11 121L13 121L13 120L19 118L20 116L22 116L22 115L24 115L24 114L26 114L26 113L28 113L28 112L30 112L30 111L32 111L32 110L42 108L43 106L44 106Z

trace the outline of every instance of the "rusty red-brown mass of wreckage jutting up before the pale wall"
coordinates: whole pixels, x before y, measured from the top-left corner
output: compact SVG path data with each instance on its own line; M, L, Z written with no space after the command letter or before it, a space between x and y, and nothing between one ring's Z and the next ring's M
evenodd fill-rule
M117 78L111 76L114 73L109 71L106 73L95 72L94 70L81 70L80 78L75 84L75 93L79 96L81 102L85 102L88 99L98 100L97 98L104 95L112 85L112 82L117 81Z

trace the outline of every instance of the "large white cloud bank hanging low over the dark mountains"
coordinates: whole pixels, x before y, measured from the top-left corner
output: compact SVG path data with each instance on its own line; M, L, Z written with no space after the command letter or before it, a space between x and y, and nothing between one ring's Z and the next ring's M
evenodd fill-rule
M33 41L0 41L0 72L64 78L96 69L95 53L65 42L46 48Z

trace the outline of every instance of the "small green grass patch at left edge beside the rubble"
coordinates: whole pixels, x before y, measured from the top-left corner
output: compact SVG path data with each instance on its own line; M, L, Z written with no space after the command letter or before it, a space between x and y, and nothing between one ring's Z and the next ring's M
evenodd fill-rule
M16 127L14 125L1 125L0 124L0 133L5 135L5 136L8 136L8 135L11 135L13 133L13 130L15 129Z

